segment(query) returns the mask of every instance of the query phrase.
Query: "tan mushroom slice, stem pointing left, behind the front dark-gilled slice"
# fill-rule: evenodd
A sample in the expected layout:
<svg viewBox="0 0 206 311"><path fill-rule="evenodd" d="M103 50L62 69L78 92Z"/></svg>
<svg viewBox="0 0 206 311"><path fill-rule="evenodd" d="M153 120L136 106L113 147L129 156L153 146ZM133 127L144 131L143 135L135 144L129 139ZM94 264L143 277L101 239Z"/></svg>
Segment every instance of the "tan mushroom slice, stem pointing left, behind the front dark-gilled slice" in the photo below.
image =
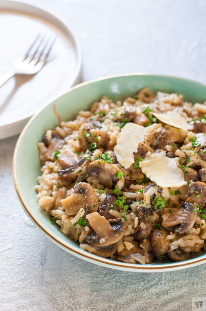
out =
<svg viewBox="0 0 206 311"><path fill-rule="evenodd" d="M74 194L61 200L61 204L69 216L77 214L80 208L83 208L88 214L97 211L98 199L90 184L78 183L74 186Z"/></svg>

